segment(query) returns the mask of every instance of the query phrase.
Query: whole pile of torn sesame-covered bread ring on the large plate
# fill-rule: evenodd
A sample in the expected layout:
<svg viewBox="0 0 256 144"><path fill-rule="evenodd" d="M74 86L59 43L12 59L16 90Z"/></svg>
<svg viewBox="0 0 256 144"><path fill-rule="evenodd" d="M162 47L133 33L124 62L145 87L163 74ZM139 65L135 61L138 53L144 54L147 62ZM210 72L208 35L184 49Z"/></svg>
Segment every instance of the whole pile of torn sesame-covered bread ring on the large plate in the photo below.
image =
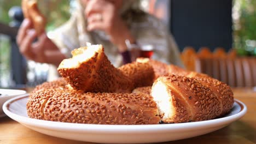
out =
<svg viewBox="0 0 256 144"><path fill-rule="evenodd" d="M138 58L115 68L102 45L80 47L72 56L59 65L63 78L31 93L29 117L86 124L181 123L225 115L234 103L225 83L176 65Z"/></svg>

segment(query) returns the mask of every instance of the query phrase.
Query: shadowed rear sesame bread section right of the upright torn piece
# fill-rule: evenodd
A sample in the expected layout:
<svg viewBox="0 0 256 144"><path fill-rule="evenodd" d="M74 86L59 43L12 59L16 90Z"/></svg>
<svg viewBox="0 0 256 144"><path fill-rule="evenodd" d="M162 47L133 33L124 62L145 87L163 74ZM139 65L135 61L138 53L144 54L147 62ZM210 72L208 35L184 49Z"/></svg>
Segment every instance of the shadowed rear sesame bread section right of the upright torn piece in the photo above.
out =
<svg viewBox="0 0 256 144"><path fill-rule="evenodd" d="M133 88L153 85L155 73L149 63L132 62L118 69L131 79Z"/></svg>

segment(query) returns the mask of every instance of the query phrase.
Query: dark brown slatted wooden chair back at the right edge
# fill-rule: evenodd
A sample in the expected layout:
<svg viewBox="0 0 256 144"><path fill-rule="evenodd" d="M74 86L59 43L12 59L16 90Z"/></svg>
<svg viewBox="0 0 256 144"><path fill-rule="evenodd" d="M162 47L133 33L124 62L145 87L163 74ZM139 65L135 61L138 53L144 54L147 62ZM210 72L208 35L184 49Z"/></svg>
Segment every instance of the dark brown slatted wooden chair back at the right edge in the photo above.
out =
<svg viewBox="0 0 256 144"><path fill-rule="evenodd" d="M256 86L256 57L196 57L195 69L231 87Z"/></svg>

